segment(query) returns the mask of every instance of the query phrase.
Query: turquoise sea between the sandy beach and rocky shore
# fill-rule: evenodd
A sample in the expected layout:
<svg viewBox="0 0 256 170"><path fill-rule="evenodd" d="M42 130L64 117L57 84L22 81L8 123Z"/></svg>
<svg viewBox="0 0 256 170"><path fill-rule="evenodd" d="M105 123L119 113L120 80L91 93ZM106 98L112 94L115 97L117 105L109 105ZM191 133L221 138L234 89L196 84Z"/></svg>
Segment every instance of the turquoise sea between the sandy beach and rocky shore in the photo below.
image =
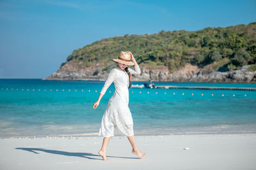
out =
<svg viewBox="0 0 256 170"><path fill-rule="evenodd" d="M251 83L154 83L256 88ZM0 79L0 137L98 136L115 90L111 84L94 110L103 85L104 81ZM256 91L131 88L129 108L135 136L256 132Z"/></svg>

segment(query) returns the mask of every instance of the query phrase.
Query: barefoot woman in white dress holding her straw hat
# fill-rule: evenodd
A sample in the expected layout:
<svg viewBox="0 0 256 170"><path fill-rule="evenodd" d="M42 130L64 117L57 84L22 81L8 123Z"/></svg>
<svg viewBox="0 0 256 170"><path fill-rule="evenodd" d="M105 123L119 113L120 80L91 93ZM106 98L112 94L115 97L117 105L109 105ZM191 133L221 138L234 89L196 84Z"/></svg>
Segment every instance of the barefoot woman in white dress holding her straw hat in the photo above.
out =
<svg viewBox="0 0 256 170"><path fill-rule="evenodd" d="M131 62L132 59L132 62ZM117 66L109 72L108 78L105 81L104 87L100 91L99 99L93 103L93 108L96 109L99 106L100 99L105 94L109 85L114 82L115 92L109 99L108 107L102 117L101 126L99 130L99 136L104 137L102 142L102 148L99 150L99 155L103 160L109 160L106 158L106 148L111 136L114 136L115 132L127 136L131 145L132 153L142 158L146 153L140 152L134 141L133 133L133 120L131 111L129 110L129 88L131 87L131 73L140 74L140 67L134 59L131 52L120 52L118 59L113 59L117 62ZM133 66L134 69L128 66Z"/></svg>

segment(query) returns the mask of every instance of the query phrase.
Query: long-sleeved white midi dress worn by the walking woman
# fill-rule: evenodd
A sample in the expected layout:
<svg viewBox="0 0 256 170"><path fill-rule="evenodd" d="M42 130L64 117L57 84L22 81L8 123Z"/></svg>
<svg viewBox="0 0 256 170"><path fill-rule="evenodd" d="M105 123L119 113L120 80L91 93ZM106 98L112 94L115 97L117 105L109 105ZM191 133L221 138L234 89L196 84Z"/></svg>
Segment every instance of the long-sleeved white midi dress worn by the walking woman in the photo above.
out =
<svg viewBox="0 0 256 170"><path fill-rule="evenodd" d="M134 69L128 67L131 74L141 73L139 66L134 66ZM100 93L104 95L112 82L114 82L115 85L115 92L113 93L113 96L110 97L108 107L102 117L99 136L102 135L103 137L109 137L114 136L114 134L132 136L134 135L133 120L131 111L128 107L129 76L125 70L116 66L109 72L108 78Z"/></svg>

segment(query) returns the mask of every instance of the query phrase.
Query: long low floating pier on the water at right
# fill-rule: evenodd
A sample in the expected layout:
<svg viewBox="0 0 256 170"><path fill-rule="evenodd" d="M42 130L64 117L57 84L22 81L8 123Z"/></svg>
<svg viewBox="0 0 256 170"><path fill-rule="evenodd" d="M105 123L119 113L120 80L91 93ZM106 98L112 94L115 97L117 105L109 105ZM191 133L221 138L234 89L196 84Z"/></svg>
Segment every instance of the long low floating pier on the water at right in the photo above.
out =
<svg viewBox="0 0 256 170"><path fill-rule="evenodd" d="M156 85L157 89L205 89L205 90L251 90L256 91L256 88L251 87L181 87L172 85Z"/></svg>

